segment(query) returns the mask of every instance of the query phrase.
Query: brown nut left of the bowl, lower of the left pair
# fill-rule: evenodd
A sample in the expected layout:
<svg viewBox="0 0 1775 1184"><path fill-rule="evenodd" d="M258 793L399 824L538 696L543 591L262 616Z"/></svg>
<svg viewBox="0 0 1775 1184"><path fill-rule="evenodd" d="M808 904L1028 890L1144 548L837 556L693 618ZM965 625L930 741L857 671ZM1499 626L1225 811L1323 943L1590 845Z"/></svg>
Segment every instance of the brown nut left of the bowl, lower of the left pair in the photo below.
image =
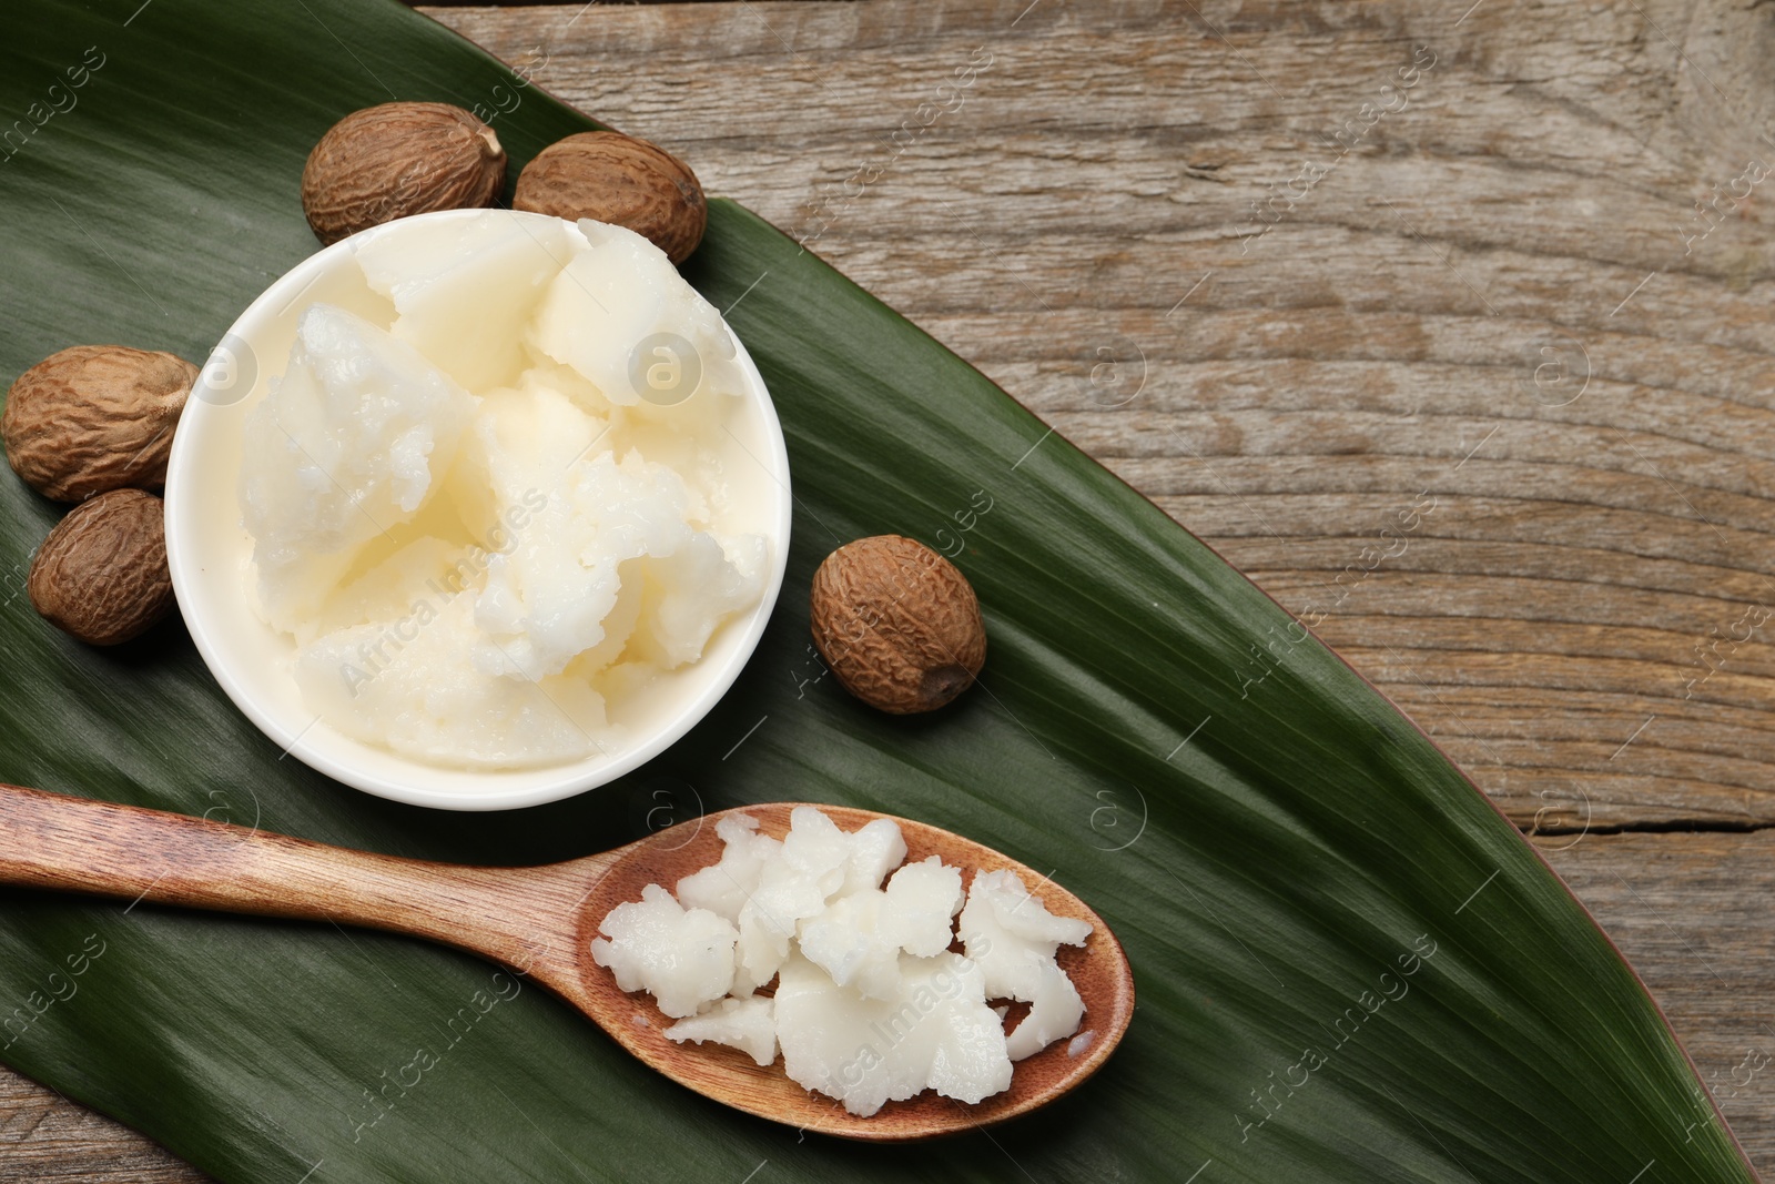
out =
<svg viewBox="0 0 1775 1184"><path fill-rule="evenodd" d="M160 499L112 490L75 506L37 549L25 591L44 620L96 646L160 621L174 604Z"/></svg>

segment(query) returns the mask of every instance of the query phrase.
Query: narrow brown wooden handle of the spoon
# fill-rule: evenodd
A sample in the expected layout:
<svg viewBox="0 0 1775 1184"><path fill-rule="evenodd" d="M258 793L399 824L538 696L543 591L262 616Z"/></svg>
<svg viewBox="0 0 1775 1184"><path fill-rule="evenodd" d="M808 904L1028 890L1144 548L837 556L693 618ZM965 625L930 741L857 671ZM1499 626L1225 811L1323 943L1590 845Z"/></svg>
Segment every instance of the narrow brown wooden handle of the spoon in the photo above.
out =
<svg viewBox="0 0 1775 1184"><path fill-rule="evenodd" d="M0 884L362 925L529 969L575 939L600 859L469 868L0 785Z"/></svg>

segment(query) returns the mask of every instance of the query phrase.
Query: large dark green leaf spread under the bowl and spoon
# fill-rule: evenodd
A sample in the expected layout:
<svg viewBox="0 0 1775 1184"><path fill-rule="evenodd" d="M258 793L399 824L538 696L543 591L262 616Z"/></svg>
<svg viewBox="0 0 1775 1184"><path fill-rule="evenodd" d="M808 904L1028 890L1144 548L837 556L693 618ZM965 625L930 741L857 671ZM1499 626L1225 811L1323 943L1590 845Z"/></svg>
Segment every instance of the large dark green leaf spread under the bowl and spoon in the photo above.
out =
<svg viewBox="0 0 1775 1184"><path fill-rule="evenodd" d="M0 48L7 375L85 341L204 357L314 249L296 178L328 124L511 82L394 4L44 4ZM515 165L589 126L531 94L495 124ZM1278 605L746 209L714 202L689 275L770 383L799 508L765 643L664 758L499 817L344 790L280 760L176 625L94 651L41 623L18 591L59 509L5 479L0 777L485 863L612 847L662 809L912 815L1053 868L1115 927L1141 1005L1102 1074L992 1138L799 1140L540 991L483 1012L493 967L453 951L21 891L0 895L0 1060L254 1184L737 1180L761 1161L809 1180L1754 1179L1564 886ZM816 678L799 589L820 557L955 538L987 504L958 556L983 685L889 719ZM414 1083L421 1047L437 1067Z"/></svg>

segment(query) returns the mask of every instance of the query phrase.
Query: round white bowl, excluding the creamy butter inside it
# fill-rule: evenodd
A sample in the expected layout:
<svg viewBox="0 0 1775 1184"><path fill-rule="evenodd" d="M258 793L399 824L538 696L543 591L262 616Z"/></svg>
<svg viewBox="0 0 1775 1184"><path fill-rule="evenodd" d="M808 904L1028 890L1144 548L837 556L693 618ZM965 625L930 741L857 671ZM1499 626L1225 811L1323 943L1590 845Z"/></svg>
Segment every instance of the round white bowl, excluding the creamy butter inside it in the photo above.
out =
<svg viewBox="0 0 1775 1184"><path fill-rule="evenodd" d="M758 462L756 529L769 540L765 593L726 621L701 660L666 675L644 703L628 705L628 740L609 754L543 769L463 770L428 765L344 737L318 722L291 676L295 643L268 627L247 595L252 540L241 525L240 472L247 410L282 375L302 311L323 300L382 325L389 305L353 261L359 241L405 227L490 211L451 209L403 218L320 250L272 284L234 321L204 366L179 421L167 467L167 559L179 612L229 698L289 756L378 797L442 809L513 809L572 797L612 781L683 737L726 694L758 646L788 561L788 451L758 367L735 337L746 378L742 410L728 422ZM509 213L550 220L547 215ZM616 706L616 705L612 705Z"/></svg>

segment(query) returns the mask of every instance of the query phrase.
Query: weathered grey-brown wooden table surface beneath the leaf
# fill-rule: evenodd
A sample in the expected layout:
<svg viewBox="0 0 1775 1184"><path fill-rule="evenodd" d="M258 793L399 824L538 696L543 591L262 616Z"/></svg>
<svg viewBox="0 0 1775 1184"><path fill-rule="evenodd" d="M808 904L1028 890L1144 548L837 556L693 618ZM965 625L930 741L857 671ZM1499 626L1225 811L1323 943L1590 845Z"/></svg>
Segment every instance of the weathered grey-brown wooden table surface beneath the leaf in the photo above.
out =
<svg viewBox="0 0 1775 1184"><path fill-rule="evenodd" d="M1322 614L1775 1173L1775 7L1468 4L431 14ZM195 1179L0 1072L0 1180Z"/></svg>

